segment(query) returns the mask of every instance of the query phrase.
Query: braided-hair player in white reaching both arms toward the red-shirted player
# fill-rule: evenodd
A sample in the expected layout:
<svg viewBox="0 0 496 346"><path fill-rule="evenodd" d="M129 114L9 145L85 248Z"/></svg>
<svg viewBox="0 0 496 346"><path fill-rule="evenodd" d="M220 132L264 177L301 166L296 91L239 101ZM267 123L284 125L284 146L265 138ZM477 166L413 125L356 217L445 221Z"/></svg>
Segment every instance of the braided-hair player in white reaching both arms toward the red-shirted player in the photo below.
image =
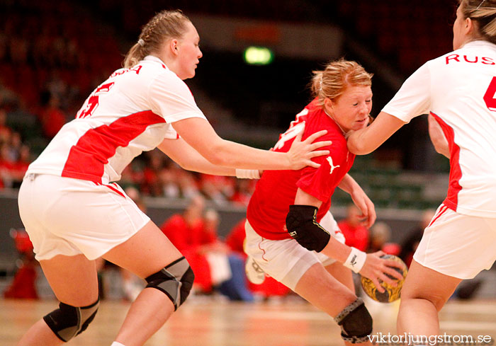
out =
<svg viewBox="0 0 496 346"><path fill-rule="evenodd" d="M115 71L91 93L26 173L19 212L60 307L18 345L61 345L98 308L94 260L103 257L147 280L113 346L143 345L188 296L191 267L164 233L113 183L142 151L158 147L186 169L254 177L258 169L315 166L312 142L289 153L225 141L196 106L184 79L195 75L199 37L180 11L162 11ZM217 165L217 166L214 166ZM318 165L317 165L318 166ZM239 169L237 169L239 168Z"/></svg>

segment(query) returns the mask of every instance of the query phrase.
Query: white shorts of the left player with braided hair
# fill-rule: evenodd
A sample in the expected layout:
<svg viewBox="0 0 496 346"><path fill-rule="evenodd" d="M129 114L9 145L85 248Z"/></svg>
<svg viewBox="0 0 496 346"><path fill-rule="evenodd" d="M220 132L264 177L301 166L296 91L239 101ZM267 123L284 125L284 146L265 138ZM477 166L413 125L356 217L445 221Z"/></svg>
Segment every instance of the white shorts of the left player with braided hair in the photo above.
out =
<svg viewBox="0 0 496 346"><path fill-rule="evenodd" d="M94 260L150 221L115 183L57 175L26 175L18 204L37 260L81 253Z"/></svg>

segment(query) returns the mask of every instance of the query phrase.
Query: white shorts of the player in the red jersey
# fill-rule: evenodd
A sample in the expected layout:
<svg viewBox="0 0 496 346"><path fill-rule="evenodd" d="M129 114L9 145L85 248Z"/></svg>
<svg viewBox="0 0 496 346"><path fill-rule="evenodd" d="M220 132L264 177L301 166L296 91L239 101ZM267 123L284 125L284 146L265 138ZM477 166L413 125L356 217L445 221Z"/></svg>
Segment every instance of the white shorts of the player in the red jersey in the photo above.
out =
<svg viewBox="0 0 496 346"><path fill-rule="evenodd" d="M329 231L332 237L344 243L344 235L330 212L322 217L320 225ZM322 263L327 267L327 265L336 262L322 253L303 248L293 238L281 241L262 238L254 231L248 220L244 224L244 229L247 233L244 251L266 274L274 277L278 282L282 282L293 291L300 278L312 265Z"/></svg>

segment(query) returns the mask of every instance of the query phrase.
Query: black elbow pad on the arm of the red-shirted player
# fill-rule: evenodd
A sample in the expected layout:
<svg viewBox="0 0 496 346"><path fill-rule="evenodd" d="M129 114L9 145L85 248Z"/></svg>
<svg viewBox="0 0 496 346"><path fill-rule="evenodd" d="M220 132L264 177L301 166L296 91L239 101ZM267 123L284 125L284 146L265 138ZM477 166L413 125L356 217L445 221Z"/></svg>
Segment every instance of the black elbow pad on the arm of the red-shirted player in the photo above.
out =
<svg viewBox="0 0 496 346"><path fill-rule="evenodd" d="M329 243L331 235L316 221L317 210L312 205L290 205L286 228L303 248L320 253Z"/></svg>

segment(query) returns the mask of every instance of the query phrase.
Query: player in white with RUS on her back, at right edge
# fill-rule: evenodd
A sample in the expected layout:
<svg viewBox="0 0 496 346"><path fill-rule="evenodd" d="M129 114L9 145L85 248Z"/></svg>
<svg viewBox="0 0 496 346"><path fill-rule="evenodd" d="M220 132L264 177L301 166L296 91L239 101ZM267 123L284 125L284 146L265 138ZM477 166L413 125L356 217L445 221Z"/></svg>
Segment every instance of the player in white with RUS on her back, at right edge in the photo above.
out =
<svg viewBox="0 0 496 346"><path fill-rule="evenodd" d="M398 333L439 335L438 312L457 285L496 260L496 0L460 1L453 50L420 67L371 126L348 138L349 151L368 154L425 113L444 134L431 131L450 158L448 195L402 288Z"/></svg>

